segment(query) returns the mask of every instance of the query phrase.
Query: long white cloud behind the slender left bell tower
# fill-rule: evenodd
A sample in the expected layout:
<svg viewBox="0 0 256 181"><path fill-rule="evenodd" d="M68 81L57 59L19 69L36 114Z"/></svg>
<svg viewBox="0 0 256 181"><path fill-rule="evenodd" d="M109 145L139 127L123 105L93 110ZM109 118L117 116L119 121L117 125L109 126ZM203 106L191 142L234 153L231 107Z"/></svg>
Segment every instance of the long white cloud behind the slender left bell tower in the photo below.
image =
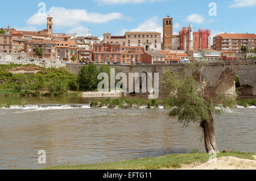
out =
<svg viewBox="0 0 256 181"><path fill-rule="evenodd" d="M120 12L109 14L100 14L98 12L88 12L84 9L65 9L64 7L51 7L46 14L36 13L28 20L28 24L42 25L46 24L47 15L53 17L55 26L78 26L82 22L106 23L110 20L121 19L123 15Z"/></svg>

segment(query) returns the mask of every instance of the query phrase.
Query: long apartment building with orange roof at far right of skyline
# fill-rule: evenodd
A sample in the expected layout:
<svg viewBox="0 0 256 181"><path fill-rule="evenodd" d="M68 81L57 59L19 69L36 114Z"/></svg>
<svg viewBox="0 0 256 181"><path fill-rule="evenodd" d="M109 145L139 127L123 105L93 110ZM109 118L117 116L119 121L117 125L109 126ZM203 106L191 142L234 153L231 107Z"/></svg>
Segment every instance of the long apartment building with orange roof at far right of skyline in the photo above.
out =
<svg viewBox="0 0 256 181"><path fill-rule="evenodd" d="M221 33L213 37L214 50L231 50L239 53L242 46L254 50L255 43L256 35L249 33Z"/></svg>

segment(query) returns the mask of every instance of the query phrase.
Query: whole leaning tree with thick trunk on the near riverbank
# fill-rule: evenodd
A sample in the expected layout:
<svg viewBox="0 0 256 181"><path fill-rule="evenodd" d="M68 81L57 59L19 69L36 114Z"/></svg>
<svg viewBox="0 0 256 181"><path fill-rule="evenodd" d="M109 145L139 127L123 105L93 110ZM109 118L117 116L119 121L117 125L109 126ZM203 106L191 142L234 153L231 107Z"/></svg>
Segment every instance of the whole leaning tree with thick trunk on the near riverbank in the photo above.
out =
<svg viewBox="0 0 256 181"><path fill-rule="evenodd" d="M207 153L219 153L214 133L213 114L220 114L226 107L234 106L234 98L218 95L221 85L228 80L234 80L234 72L242 62L228 65L220 79L212 85L216 71L210 74L208 81L203 78L205 62L195 62L185 65L178 73L171 69L163 71L163 92L168 96L173 107L170 117L177 117L186 127L190 123L199 123L204 133L204 143ZM226 65L225 65L226 66Z"/></svg>

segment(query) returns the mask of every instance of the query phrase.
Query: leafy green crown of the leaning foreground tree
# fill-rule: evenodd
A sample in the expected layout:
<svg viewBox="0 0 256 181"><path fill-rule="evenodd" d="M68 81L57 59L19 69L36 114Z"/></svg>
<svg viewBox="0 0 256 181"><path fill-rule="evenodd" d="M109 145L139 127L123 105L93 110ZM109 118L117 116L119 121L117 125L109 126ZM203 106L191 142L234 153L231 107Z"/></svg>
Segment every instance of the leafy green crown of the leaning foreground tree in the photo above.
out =
<svg viewBox="0 0 256 181"><path fill-rule="evenodd" d="M208 120L210 111L217 112L211 102L207 102L201 95L201 87L192 75L186 70L179 73L172 73L170 69L163 72L163 89L170 99L170 117L178 117L184 125L191 122ZM209 111L210 110L210 111Z"/></svg>

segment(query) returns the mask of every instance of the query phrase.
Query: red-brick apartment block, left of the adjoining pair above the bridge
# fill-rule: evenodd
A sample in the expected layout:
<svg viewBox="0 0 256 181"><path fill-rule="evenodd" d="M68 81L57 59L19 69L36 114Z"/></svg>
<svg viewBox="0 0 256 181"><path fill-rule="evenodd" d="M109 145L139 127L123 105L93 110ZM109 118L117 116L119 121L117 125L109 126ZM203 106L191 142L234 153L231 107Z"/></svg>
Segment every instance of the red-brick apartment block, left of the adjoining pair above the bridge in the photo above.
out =
<svg viewBox="0 0 256 181"><path fill-rule="evenodd" d="M93 61L97 63L121 63L121 45L110 43L96 43L93 45Z"/></svg>

